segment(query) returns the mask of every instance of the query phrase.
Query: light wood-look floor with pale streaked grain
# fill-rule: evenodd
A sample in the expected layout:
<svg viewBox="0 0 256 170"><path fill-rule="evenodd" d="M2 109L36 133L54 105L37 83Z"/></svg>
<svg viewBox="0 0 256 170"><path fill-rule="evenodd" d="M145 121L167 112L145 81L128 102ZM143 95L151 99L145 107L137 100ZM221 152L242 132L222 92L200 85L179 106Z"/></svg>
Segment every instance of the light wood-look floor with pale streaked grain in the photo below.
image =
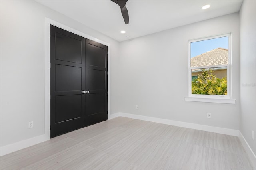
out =
<svg viewBox="0 0 256 170"><path fill-rule="evenodd" d="M1 169L254 169L238 137L117 117L2 156Z"/></svg>

